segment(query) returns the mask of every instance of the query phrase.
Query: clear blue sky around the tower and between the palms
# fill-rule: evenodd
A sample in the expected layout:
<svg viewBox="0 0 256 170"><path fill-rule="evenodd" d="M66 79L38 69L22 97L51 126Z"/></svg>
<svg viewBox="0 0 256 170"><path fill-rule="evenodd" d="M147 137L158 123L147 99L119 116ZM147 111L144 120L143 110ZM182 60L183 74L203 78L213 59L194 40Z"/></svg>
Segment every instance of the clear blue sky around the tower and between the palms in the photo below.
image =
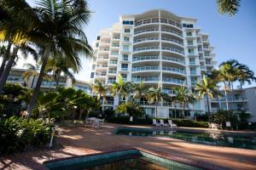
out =
<svg viewBox="0 0 256 170"><path fill-rule="evenodd" d="M256 1L241 0L239 12L230 17L218 14L217 0L88 0L91 17L84 32L91 43L102 28L119 22L119 14L141 14L152 8L163 8L179 16L198 19L196 27L209 34L215 48L218 64L237 59L256 74ZM35 0L26 0L32 6ZM18 67L32 59L20 59ZM82 81L90 80L90 60L82 59L83 70L76 75ZM254 83L253 86L256 84Z"/></svg>

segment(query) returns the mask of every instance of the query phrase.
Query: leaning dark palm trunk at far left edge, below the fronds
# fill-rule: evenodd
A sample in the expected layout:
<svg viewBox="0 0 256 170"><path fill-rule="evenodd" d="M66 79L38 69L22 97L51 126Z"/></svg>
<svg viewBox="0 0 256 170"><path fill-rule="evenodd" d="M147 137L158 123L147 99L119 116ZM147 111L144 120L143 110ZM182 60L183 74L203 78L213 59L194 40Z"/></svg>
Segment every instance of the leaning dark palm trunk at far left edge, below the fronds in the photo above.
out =
<svg viewBox="0 0 256 170"><path fill-rule="evenodd" d="M7 78L9 76L9 71L11 70L12 66L14 65L15 59L17 57L19 51L19 47L15 47L13 54L10 56L7 65L4 68L3 74L0 78L0 94L2 93L3 86L5 82L7 81Z"/></svg>

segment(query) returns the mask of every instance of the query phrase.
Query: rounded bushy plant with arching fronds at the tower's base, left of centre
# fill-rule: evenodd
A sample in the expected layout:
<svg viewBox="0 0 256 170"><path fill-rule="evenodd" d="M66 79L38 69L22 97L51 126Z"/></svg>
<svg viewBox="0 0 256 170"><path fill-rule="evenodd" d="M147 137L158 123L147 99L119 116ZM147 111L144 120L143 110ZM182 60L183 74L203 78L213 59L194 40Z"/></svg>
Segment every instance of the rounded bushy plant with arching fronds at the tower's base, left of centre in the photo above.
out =
<svg viewBox="0 0 256 170"><path fill-rule="evenodd" d="M120 104L115 111L120 114L127 113L129 116L143 116L145 114L143 108L132 100Z"/></svg>

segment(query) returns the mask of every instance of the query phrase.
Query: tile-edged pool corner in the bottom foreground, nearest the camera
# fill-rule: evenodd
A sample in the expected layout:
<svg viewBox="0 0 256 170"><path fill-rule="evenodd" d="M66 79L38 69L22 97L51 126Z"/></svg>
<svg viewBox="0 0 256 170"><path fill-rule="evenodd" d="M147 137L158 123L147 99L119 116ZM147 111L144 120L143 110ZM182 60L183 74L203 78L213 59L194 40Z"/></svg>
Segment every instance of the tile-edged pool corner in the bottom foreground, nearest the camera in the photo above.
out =
<svg viewBox="0 0 256 170"><path fill-rule="evenodd" d="M154 156L142 150L120 150L115 152L96 154L93 156L80 156L60 161L44 163L50 170L200 170L177 161Z"/></svg>

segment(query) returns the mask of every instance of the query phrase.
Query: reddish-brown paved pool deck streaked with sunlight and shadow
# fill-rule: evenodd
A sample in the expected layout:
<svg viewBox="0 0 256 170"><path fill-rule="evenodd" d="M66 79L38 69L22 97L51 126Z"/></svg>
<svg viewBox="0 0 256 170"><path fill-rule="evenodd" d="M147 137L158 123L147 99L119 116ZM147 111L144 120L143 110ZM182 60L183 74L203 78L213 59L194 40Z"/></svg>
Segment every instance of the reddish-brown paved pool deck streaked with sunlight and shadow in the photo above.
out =
<svg viewBox="0 0 256 170"><path fill-rule="evenodd" d="M256 169L256 150L191 144L178 139L161 137L143 138L113 134L113 131L121 126L124 125L106 123L99 129L61 127L62 134L61 137L58 137L57 142L64 146L63 149L35 150L14 156L4 156L0 158L0 169L40 170L45 169L44 161L131 148L145 150L173 161L188 163L206 169ZM193 129L197 131L204 130L202 128Z"/></svg>

